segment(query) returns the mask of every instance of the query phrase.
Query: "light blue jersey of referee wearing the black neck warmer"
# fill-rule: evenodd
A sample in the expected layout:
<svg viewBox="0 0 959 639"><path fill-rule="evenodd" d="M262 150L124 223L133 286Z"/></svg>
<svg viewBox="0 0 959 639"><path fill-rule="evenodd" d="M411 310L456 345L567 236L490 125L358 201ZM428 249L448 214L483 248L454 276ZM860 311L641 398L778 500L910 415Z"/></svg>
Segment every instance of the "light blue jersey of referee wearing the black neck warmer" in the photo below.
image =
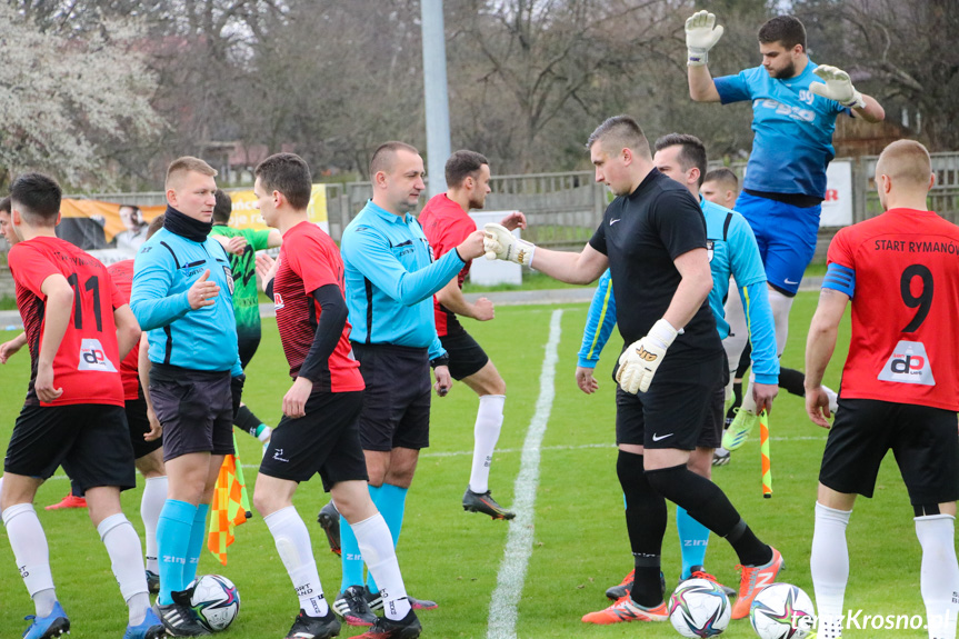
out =
<svg viewBox="0 0 959 639"><path fill-rule="evenodd" d="M190 309L187 291L203 271L220 287L213 306ZM242 375L233 319L233 279L227 251L161 229L133 262L130 309L148 332L150 361L191 370Z"/></svg>

